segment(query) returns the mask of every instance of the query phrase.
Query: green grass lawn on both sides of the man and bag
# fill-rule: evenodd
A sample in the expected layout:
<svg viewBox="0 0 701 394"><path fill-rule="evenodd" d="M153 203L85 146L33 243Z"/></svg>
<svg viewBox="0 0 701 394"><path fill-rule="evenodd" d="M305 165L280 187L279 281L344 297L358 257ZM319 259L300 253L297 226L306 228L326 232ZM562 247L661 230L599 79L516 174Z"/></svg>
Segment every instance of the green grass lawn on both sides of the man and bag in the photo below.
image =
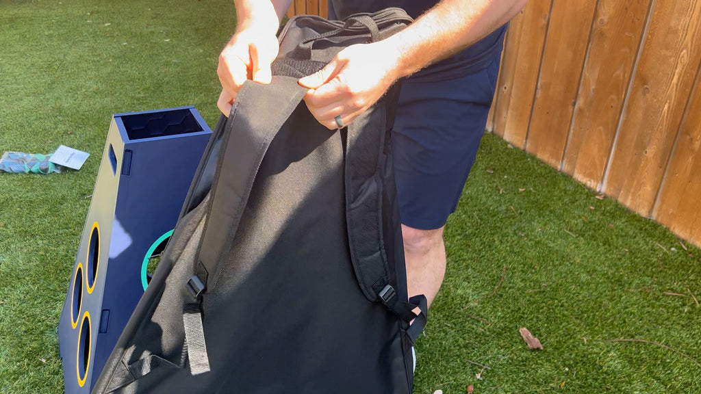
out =
<svg viewBox="0 0 701 394"><path fill-rule="evenodd" d="M230 0L0 0L0 154L91 154L0 174L0 393L63 392L56 327L111 114L194 105L213 126L234 20ZM486 135L446 245L416 393L701 393L701 250L662 226Z"/></svg>

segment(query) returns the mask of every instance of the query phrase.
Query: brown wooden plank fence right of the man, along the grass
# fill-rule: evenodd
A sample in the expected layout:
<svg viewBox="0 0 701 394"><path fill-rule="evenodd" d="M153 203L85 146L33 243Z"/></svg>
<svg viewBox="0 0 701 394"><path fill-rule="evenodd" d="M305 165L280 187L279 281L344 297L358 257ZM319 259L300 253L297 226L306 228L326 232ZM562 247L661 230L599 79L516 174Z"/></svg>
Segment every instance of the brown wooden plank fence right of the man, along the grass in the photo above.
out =
<svg viewBox="0 0 701 394"><path fill-rule="evenodd" d="M701 245L701 0L530 0L488 128Z"/></svg>

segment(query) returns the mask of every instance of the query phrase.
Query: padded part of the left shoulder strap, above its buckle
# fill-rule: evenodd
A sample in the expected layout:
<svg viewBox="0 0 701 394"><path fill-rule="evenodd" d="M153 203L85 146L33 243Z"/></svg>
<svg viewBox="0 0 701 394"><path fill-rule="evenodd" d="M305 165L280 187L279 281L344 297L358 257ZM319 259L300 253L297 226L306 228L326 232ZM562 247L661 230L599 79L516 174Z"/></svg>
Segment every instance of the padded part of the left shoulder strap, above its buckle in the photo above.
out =
<svg viewBox="0 0 701 394"><path fill-rule="evenodd" d="M267 85L246 81L239 91L212 182L212 205L198 251L199 266L194 267L205 287L212 284L201 272L216 276L217 263L236 236L261 161L306 90L297 78L273 76Z"/></svg>

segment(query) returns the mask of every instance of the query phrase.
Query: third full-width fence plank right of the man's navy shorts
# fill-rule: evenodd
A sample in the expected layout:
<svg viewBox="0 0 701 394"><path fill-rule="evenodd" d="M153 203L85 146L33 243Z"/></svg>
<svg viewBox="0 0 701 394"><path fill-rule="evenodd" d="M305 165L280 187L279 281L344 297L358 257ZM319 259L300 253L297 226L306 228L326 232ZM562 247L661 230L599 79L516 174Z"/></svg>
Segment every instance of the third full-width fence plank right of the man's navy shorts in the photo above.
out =
<svg viewBox="0 0 701 394"><path fill-rule="evenodd" d="M599 0L562 170L592 189L604 178L651 0Z"/></svg>

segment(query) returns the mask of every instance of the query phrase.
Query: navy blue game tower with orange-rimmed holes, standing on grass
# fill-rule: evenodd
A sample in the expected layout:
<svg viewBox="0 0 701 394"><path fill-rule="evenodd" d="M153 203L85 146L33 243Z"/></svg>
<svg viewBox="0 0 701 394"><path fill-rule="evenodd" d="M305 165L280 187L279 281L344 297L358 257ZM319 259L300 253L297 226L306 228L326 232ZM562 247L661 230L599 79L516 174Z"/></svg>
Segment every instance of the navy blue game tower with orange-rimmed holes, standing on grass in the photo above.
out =
<svg viewBox="0 0 701 394"><path fill-rule="evenodd" d="M100 376L211 135L194 107L112 117L58 327L67 394Z"/></svg>

